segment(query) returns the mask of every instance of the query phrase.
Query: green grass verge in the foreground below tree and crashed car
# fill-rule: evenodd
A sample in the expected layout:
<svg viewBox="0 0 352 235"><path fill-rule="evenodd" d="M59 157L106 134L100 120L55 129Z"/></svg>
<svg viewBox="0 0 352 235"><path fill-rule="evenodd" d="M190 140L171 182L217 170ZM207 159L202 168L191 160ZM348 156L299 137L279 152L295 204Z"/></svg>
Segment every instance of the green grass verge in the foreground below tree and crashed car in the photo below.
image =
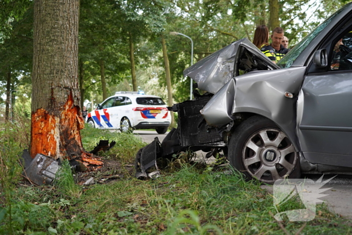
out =
<svg viewBox="0 0 352 235"><path fill-rule="evenodd" d="M13 136L20 136L21 131L10 128L0 133L0 234L296 234L300 229L300 234L352 232L350 221L329 212L325 205L317 206L312 221L277 222L272 195L258 182L246 182L232 169L184 161L162 171L154 180L140 181L126 171L124 178L85 188L74 184L68 165L64 165L54 185L29 186L18 175L18 152L26 144ZM117 141L104 158L119 161L122 167L132 164L137 150L145 145L133 134L82 130L86 149L93 149L100 139ZM298 201L288 205L299 206Z"/></svg>

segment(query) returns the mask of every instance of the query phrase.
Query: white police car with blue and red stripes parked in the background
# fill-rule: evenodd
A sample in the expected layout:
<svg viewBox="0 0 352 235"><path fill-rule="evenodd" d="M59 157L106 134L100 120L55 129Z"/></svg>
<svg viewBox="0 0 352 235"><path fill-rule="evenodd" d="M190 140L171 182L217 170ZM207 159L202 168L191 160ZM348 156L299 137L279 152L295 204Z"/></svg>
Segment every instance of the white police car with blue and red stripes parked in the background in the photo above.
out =
<svg viewBox="0 0 352 235"><path fill-rule="evenodd" d="M155 129L164 134L171 122L165 103L158 96L138 92L116 92L87 116L87 123L96 128Z"/></svg>

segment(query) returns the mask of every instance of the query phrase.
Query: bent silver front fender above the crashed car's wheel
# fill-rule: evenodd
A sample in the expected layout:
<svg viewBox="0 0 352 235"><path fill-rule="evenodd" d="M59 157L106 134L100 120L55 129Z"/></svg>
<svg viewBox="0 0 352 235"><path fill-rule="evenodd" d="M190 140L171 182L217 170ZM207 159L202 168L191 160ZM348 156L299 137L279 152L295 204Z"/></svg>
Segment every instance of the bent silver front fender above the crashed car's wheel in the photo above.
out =
<svg viewBox="0 0 352 235"><path fill-rule="evenodd" d="M299 148L296 102L306 67L249 72L228 82L201 111L209 125L222 126L236 113L254 113L273 120ZM285 97L285 92L294 98ZM234 96L233 96L234 94Z"/></svg>

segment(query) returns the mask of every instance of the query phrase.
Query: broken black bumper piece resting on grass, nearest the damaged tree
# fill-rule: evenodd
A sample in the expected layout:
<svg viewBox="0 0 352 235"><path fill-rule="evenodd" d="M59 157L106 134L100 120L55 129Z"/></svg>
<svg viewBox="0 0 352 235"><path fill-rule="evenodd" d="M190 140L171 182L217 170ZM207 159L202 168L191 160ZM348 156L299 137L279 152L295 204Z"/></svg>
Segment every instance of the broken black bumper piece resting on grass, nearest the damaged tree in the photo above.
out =
<svg viewBox="0 0 352 235"><path fill-rule="evenodd" d="M156 165L160 149L160 141L158 137L155 137L153 142L138 150L135 160L135 177L137 179L156 178L160 175Z"/></svg>

